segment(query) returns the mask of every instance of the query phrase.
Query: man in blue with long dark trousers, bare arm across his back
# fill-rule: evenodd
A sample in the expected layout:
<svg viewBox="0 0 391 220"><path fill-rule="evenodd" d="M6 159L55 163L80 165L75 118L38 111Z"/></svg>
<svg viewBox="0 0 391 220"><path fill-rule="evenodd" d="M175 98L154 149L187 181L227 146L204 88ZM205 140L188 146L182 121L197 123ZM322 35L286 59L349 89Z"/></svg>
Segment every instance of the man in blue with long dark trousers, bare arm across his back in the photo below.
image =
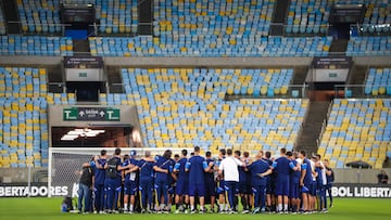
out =
<svg viewBox="0 0 391 220"><path fill-rule="evenodd" d="M266 184L267 174L272 172L269 164L262 158L263 151L255 156L255 161L249 165L248 169L251 173L251 184L254 193L254 210L253 213L265 212L266 207Z"/></svg>

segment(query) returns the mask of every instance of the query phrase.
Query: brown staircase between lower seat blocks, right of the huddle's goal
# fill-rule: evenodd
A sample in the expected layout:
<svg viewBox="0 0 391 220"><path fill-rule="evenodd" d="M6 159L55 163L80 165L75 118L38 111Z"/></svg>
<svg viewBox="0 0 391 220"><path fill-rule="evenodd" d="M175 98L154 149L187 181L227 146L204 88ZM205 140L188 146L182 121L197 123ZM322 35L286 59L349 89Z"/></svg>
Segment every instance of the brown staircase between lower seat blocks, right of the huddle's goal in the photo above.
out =
<svg viewBox="0 0 391 220"><path fill-rule="evenodd" d="M297 142L297 150L306 151L307 155L315 154L318 147L318 138L327 113L329 111L330 102L311 102L307 111L304 125Z"/></svg>

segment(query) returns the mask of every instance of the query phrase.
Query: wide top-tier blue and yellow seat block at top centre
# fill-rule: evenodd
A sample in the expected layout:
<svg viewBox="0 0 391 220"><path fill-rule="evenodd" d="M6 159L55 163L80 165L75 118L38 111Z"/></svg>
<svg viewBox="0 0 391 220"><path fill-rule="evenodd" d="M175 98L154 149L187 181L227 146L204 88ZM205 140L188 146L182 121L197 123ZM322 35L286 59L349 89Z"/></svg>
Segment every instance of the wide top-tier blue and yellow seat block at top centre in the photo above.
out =
<svg viewBox="0 0 391 220"><path fill-rule="evenodd" d="M274 0L154 1L155 36L267 36Z"/></svg>

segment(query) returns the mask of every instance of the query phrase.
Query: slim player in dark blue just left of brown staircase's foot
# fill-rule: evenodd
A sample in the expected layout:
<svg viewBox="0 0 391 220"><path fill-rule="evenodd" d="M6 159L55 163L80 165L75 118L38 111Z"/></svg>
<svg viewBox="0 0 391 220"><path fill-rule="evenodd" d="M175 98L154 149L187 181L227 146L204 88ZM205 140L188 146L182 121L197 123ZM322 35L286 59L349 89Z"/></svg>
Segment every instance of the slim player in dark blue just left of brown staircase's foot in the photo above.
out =
<svg viewBox="0 0 391 220"><path fill-rule="evenodd" d="M289 179L289 197L291 199L291 208L292 212L295 213L300 209L300 194L299 194L299 183L300 183L300 176L301 176L301 164L297 160L298 154L292 152L287 152L287 158L291 160L295 170L290 171L290 179Z"/></svg>

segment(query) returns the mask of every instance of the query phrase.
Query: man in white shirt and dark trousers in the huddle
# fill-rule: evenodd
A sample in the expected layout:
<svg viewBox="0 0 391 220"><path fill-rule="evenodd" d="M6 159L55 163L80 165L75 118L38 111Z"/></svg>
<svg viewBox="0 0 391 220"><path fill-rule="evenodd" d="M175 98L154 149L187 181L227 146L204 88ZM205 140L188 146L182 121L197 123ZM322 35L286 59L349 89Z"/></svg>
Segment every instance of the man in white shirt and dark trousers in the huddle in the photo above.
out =
<svg viewBox="0 0 391 220"><path fill-rule="evenodd" d="M218 173L224 174L225 191L230 206L230 213L237 212L235 204L235 194L239 184L238 166L245 166L242 161L232 156L232 150L227 150L227 157L224 158L218 167Z"/></svg>

